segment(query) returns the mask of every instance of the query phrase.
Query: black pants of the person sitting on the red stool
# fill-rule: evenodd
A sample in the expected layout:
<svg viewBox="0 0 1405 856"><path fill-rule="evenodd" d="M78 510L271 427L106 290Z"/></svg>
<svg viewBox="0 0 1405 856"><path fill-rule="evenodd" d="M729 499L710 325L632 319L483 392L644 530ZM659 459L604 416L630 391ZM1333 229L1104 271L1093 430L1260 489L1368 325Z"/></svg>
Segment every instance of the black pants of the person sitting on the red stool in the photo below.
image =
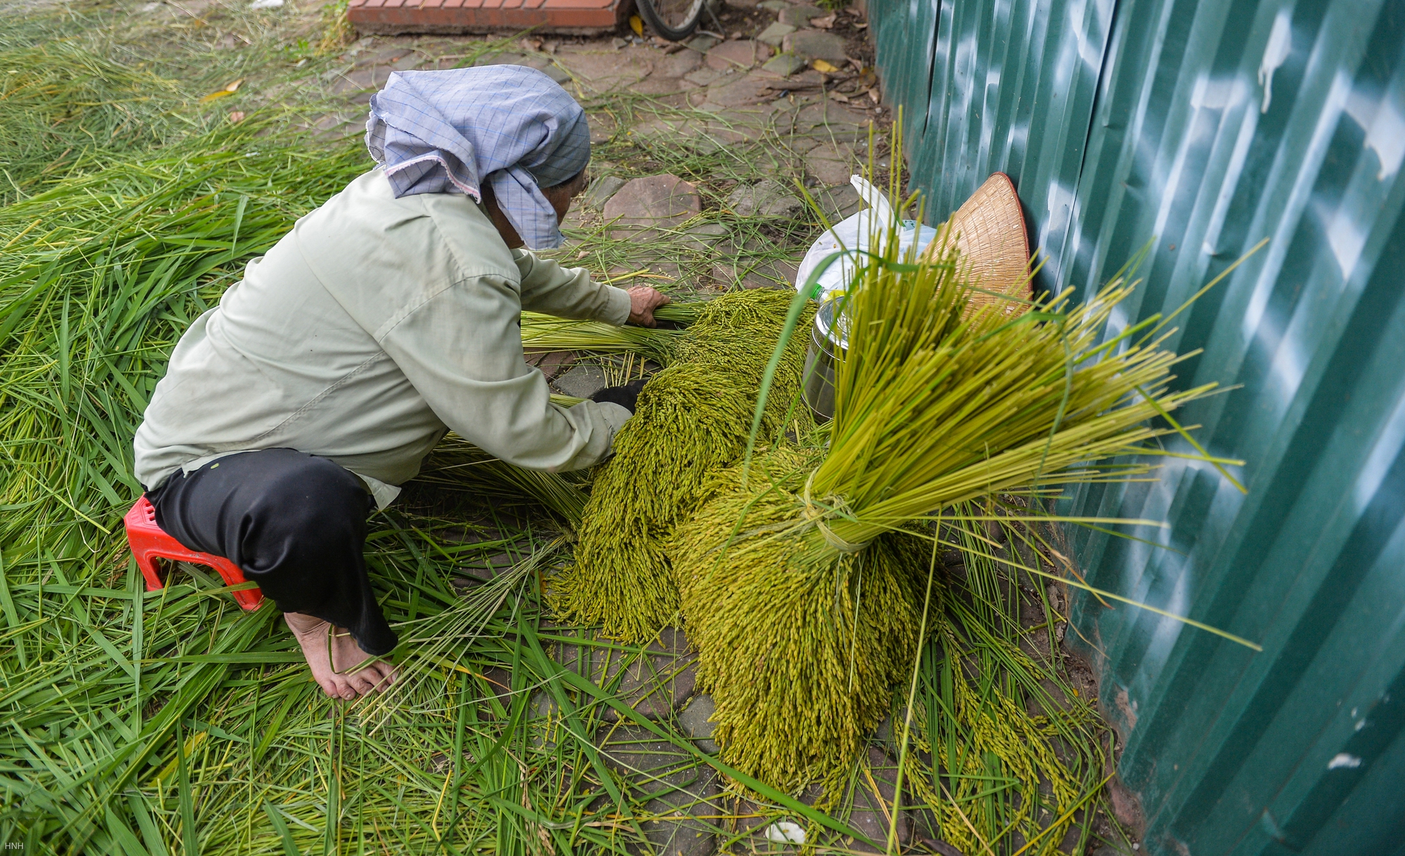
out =
<svg viewBox="0 0 1405 856"><path fill-rule="evenodd" d="M367 654L395 650L361 554L375 501L348 470L294 449L240 452L146 498L171 537L233 561L278 609L346 627Z"/></svg>

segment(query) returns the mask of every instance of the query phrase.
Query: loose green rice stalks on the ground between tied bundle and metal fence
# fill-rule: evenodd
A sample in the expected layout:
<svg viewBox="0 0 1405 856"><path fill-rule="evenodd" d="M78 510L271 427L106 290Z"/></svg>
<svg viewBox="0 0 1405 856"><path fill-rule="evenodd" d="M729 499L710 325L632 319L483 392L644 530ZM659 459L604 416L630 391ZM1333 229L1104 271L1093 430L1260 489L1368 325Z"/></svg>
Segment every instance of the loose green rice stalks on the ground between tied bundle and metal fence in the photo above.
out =
<svg viewBox="0 0 1405 856"><path fill-rule="evenodd" d="M958 542L988 537L969 521L948 529ZM1017 580L971 556L964 570L962 580L936 595L937 629L923 658L930 665L922 674L923 700L913 709L919 754L908 756L906 782L920 803L932 805L940 838L962 852L984 850L982 841L998 842L1012 832L1031 841L1047 828L1043 846L1033 852L1054 853L1073 825L1069 808L1102 786L1100 759L1087 758L1090 763L1075 769L1083 759L1068 752L1096 748L1089 731L1097 717L1066 688L1066 697L1054 700L1045 686L1058 686L1058 675L1020 648L1024 630L999 606L1000 589L1012 589L1017 616ZM1045 713L1031 714L1026 699ZM1075 766L1055 754L1055 740ZM1051 814L1041 817L1040 807Z"/></svg>

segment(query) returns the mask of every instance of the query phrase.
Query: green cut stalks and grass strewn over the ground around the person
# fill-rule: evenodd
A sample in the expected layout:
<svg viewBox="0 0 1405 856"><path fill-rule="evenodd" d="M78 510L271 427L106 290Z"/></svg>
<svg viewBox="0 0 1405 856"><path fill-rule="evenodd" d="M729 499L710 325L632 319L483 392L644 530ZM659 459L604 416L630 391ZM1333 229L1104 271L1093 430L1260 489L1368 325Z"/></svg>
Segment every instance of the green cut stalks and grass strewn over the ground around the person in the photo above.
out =
<svg viewBox="0 0 1405 856"><path fill-rule="evenodd" d="M551 623L541 578L569 544L559 518L525 498L485 504L426 479L372 521L368 561L406 679L355 706L318 692L271 605L243 613L188 567L146 592L121 515L139 491L131 436L170 348L247 258L368 161L354 139L303 131L330 94L291 84L337 62L319 53L318 10L163 6L159 25L133 24L148 14L136 4L11 11L0 25L0 65L18 69L0 84L3 145L18 153L0 188L0 839L132 856L662 852L681 814L686 835L735 850L783 820L825 848L857 846L835 827L882 839L885 824L864 824L891 805L891 734L825 817L784 794L724 800L715 762L676 718L631 713L621 674L658 658ZM219 46L230 39L243 46ZM488 42L475 45L469 62ZM268 95L280 87L287 98ZM618 128L681 115L641 98L590 107ZM705 290L719 255L780 261L812 236L725 209L726 182L781 168L750 156L763 147L700 153L624 132L601 146L621 174L698 181L702 220L725 227L722 248L677 255L674 290ZM646 265L599 226L572 233L583 264ZM1061 660L1028 653L1031 634L1057 651L1050 599L1062 595L993 564L954 567L946 591L947 630L919 671L917 744L974 761L939 775L919 752L912 775L926 790L903 804L917 800L927 838L1016 853L1026 842L1006 825L1038 786L969 723L1006 703L1061 711L1051 745L1086 807L1102 800L1106 735ZM1021 610L1034 603L1048 620L1031 631ZM563 646L627 668L568 671ZM950 714L957 695L975 718ZM1090 841L1082 828L1065 850Z"/></svg>

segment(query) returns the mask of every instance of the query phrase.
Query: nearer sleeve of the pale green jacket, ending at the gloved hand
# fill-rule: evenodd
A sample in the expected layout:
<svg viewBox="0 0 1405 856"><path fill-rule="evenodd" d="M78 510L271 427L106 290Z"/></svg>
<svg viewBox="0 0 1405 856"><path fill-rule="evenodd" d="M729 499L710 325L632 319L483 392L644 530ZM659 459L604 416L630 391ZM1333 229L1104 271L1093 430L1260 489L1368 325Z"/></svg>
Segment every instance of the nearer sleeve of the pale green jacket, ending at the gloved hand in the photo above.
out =
<svg viewBox="0 0 1405 856"><path fill-rule="evenodd" d="M513 283L473 276L409 312L381 347L434 414L489 455L534 470L599 463L629 411L552 404L547 379L523 359L520 313Z"/></svg>

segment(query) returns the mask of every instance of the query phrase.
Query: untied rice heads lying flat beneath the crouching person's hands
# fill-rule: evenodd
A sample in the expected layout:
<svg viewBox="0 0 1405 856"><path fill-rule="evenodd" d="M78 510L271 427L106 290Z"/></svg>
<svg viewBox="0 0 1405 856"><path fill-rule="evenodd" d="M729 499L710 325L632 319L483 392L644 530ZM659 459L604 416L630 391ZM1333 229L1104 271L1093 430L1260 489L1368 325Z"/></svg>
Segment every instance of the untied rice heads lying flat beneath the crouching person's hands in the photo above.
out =
<svg viewBox="0 0 1405 856"><path fill-rule="evenodd" d="M787 295L769 289L718 297L680 337L674 365L645 386L615 456L596 477L575 563L554 581L563 620L604 624L606 634L629 641L648 641L676 620L665 539L697 504L707 473L742 456L769 344L788 306ZM787 406L802 359L798 344L783 351L777 396L763 413L766 436L794 415Z"/></svg>

